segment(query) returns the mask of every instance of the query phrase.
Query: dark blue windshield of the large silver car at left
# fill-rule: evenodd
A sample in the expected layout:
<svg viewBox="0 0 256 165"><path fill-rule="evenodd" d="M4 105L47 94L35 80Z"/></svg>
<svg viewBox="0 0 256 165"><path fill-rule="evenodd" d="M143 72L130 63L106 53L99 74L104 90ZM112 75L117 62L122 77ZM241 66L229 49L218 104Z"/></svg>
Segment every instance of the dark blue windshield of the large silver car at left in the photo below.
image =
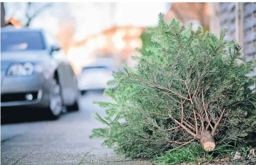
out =
<svg viewBox="0 0 256 165"><path fill-rule="evenodd" d="M1 31L1 52L44 50L39 31Z"/></svg>

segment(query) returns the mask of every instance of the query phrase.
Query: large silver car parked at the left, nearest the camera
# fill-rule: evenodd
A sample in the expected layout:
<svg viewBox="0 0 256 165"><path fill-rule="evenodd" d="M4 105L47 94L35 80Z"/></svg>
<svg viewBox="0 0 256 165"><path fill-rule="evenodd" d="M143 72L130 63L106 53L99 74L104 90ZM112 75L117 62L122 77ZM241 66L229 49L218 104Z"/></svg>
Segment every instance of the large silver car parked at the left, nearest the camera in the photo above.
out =
<svg viewBox="0 0 256 165"><path fill-rule="evenodd" d="M1 28L1 107L37 108L51 119L63 106L78 110L77 78L68 61L55 59L60 50L43 30Z"/></svg>

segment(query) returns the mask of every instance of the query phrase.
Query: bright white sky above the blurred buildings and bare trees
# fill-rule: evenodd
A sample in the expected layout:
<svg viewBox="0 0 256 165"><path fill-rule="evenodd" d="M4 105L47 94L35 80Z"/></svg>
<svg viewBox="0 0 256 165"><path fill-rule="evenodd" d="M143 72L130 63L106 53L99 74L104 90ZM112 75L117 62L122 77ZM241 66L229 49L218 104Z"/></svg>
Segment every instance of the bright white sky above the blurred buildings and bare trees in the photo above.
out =
<svg viewBox="0 0 256 165"><path fill-rule="evenodd" d="M34 3L37 10L42 3ZM31 23L31 28L44 28L52 34L60 21L76 27L74 39L82 40L112 26L155 26L160 12L167 13L170 3L54 3ZM25 3L5 3L6 19L24 20ZM14 12L15 11L15 12Z"/></svg>

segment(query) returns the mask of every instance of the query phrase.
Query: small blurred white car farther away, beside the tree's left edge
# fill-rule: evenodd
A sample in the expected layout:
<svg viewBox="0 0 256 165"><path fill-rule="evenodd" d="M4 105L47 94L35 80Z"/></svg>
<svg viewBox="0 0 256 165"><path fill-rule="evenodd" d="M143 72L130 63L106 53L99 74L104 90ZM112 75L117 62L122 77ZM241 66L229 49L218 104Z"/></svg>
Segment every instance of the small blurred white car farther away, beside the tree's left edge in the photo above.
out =
<svg viewBox="0 0 256 165"><path fill-rule="evenodd" d="M112 71L118 71L112 60L98 59L97 62L82 68L78 75L78 89L84 94L87 90L108 88L107 81L113 78Z"/></svg>

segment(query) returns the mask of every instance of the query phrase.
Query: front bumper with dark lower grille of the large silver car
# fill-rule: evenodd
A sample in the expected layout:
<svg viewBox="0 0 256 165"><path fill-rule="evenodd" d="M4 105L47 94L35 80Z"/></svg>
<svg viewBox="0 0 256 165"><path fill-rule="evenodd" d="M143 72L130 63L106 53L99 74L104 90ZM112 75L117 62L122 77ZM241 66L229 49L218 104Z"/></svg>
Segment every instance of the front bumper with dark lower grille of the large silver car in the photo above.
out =
<svg viewBox="0 0 256 165"><path fill-rule="evenodd" d="M45 108L49 105L51 82L43 74L6 76L1 80L1 107L27 106ZM32 99L26 98L31 94Z"/></svg>

